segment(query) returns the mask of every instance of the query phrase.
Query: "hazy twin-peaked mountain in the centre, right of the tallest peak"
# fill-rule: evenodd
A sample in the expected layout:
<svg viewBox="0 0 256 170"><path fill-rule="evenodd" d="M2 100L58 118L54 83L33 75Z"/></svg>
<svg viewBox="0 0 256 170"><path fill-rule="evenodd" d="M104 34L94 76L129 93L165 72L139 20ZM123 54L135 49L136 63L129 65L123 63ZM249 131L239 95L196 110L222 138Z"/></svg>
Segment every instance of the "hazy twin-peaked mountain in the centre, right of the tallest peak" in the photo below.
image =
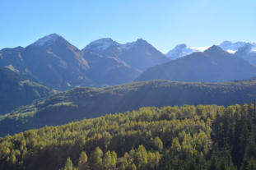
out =
<svg viewBox="0 0 256 170"><path fill-rule="evenodd" d="M165 54L143 39L127 44L119 44L113 39L98 39L88 44L83 51L98 53L103 57L119 58L138 71L145 71L148 67L169 61Z"/></svg>

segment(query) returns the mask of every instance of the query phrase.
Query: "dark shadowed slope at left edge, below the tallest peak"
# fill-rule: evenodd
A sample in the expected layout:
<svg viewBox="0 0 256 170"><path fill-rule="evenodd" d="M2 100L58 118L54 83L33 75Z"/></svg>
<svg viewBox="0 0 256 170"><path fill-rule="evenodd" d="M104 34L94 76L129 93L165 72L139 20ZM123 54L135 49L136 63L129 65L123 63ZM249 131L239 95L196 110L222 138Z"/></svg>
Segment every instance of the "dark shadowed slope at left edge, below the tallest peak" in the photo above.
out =
<svg viewBox="0 0 256 170"><path fill-rule="evenodd" d="M0 67L0 114L11 112L14 108L45 98L49 94L53 94L53 91L44 85Z"/></svg>

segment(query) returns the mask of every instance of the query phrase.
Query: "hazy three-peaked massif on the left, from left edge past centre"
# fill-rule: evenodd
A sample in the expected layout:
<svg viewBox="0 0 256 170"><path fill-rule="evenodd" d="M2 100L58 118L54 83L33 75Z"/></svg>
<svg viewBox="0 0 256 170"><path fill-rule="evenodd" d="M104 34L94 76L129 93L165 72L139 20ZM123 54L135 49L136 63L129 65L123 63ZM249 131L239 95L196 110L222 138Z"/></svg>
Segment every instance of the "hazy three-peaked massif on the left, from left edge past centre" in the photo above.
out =
<svg viewBox="0 0 256 170"><path fill-rule="evenodd" d="M0 66L57 90L131 82L141 71L167 61L143 39L125 45L100 39L80 50L62 36L49 34L26 48L0 51Z"/></svg>

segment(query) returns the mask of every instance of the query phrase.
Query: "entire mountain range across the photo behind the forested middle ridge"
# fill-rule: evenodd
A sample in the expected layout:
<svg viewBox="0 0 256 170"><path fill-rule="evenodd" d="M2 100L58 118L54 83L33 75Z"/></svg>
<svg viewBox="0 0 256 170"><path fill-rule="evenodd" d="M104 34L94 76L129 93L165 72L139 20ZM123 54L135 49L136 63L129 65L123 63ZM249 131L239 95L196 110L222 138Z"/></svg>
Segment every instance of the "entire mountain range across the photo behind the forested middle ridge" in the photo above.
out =
<svg viewBox="0 0 256 170"><path fill-rule="evenodd" d="M3 48L0 113L45 98L53 89L120 85L134 80L221 82L256 76L256 44L225 41L211 48L177 47L172 53L179 57L171 60L143 39L127 44L97 39L80 50L62 36L49 34L26 48ZM180 57L187 53L191 54Z"/></svg>

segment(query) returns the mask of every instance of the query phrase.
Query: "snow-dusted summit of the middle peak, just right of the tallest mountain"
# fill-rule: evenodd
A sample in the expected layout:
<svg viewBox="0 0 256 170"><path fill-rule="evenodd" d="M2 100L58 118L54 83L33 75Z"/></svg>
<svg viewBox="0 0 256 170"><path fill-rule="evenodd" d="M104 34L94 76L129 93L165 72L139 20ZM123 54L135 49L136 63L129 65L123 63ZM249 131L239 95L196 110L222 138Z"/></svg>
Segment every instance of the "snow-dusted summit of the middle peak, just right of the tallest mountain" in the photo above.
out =
<svg viewBox="0 0 256 170"><path fill-rule="evenodd" d="M92 41L90 44L86 45L83 50L92 49L92 50L105 50L109 48L111 45L119 46L117 42L110 38L97 39Z"/></svg>

